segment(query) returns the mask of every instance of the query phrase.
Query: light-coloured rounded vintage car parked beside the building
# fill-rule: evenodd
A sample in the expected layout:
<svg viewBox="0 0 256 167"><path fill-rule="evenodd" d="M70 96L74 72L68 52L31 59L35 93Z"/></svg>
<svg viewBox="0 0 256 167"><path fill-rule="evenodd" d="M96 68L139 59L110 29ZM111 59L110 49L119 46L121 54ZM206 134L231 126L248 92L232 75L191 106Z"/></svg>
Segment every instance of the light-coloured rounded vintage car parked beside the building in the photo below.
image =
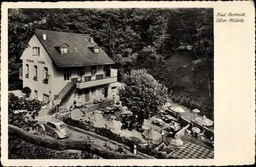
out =
<svg viewBox="0 0 256 167"><path fill-rule="evenodd" d="M55 139L69 137L71 134L67 125L58 119L41 124L39 131L46 132L47 134L52 135Z"/></svg>

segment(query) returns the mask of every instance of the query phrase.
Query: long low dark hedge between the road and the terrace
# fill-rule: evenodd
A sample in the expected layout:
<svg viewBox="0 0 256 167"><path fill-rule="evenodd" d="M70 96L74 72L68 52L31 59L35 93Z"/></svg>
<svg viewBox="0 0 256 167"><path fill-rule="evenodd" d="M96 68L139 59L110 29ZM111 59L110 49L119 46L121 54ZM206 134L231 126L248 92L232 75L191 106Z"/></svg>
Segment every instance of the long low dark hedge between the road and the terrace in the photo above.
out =
<svg viewBox="0 0 256 167"><path fill-rule="evenodd" d="M130 138L127 138L125 136L120 136L120 134L113 133L111 130L106 129L106 128L99 128L99 127L94 127L87 122L82 122L78 120L74 120L72 118L63 118L63 122L65 122L69 126L77 127L86 131L94 132L96 134L99 134L101 136L107 137L112 141L115 141L117 143L122 143L123 145L126 145L129 147L131 150L133 150L134 145L137 146L137 150L143 154L151 155L154 156L158 159L168 159L172 158L175 159L174 157L166 156L163 153L153 151L149 147L143 147L139 145L139 142L135 140L131 140Z"/></svg>

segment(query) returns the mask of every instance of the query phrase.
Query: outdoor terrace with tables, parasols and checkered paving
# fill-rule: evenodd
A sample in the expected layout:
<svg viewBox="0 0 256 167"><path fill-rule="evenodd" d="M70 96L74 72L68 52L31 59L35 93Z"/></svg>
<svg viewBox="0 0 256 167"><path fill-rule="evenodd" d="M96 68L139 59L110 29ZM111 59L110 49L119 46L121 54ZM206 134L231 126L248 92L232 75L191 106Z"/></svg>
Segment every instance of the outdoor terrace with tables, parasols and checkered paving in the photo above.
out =
<svg viewBox="0 0 256 167"><path fill-rule="evenodd" d="M115 100L115 103L118 99ZM95 114L97 113L97 114ZM126 113L126 114L124 114ZM151 119L145 119L142 128L138 128L136 126L136 121L133 122L136 118L130 114L127 114L127 109L125 106L122 106L122 109L113 110L113 112L104 112L104 110L94 110L91 115L95 115L95 117L90 116L81 116L76 117L76 120L87 122L95 127L101 128L109 128L112 132L119 134L120 136L125 136L126 138L131 138L134 140L140 141L143 145L150 145L152 149L162 144L162 141L165 143L171 143L170 141L173 138L178 137L181 141L183 141L184 148L175 148L175 149L159 149L158 151L164 152L166 154L172 154L173 157L176 158L214 158L214 147L212 147L212 143L210 138L214 136L214 131L209 129L208 127L202 126L193 119L188 121L183 118L182 114L178 119L175 119L177 113L174 113L172 110L167 109L164 113L160 113L157 117ZM102 115L102 117L100 117ZM127 116L128 115L128 116ZM125 120L130 115L130 120ZM160 121L159 124L156 120L163 119L164 115L171 115L174 120L164 119ZM96 117L99 117L96 119ZM121 122L122 127L108 127L111 120L114 122ZM133 124L133 126L127 125ZM176 124L176 125L173 125ZM178 128L179 127L179 128ZM154 134L146 133L148 129L153 129ZM198 132L193 132L193 128L198 128ZM190 131L190 133L188 133ZM143 132L143 133L142 133ZM203 133L203 136L200 133ZM148 135L148 136L147 136ZM155 135L154 139L150 139L150 136ZM167 146L166 146L167 147ZM195 155L191 155L191 152L197 152ZM201 154L202 155L199 155Z"/></svg>

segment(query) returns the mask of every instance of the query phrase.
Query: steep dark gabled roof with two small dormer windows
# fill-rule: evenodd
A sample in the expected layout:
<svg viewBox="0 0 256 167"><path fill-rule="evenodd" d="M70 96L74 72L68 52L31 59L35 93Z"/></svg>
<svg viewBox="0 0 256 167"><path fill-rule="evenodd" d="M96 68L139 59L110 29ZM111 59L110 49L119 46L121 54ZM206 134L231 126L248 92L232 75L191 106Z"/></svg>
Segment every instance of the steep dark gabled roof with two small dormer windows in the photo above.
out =
<svg viewBox="0 0 256 167"><path fill-rule="evenodd" d="M96 45L95 42L90 42L90 37L87 34L63 33L38 29L35 30L35 34L57 67L114 64L101 48L99 49L99 53L94 53L87 47L88 45ZM42 39L42 34L46 34L46 40ZM56 44L60 43L70 46L67 54L60 54L59 50L54 47L54 45L56 46Z"/></svg>

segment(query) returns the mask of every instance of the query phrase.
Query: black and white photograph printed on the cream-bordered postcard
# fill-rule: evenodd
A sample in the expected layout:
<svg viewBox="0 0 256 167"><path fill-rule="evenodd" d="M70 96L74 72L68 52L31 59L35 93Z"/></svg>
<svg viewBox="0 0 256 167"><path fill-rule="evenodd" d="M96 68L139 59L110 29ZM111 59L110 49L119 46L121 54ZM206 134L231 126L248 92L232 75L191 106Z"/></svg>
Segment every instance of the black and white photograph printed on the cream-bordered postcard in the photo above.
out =
<svg viewBox="0 0 256 167"><path fill-rule="evenodd" d="M213 8L9 9L9 159L214 158Z"/></svg>

